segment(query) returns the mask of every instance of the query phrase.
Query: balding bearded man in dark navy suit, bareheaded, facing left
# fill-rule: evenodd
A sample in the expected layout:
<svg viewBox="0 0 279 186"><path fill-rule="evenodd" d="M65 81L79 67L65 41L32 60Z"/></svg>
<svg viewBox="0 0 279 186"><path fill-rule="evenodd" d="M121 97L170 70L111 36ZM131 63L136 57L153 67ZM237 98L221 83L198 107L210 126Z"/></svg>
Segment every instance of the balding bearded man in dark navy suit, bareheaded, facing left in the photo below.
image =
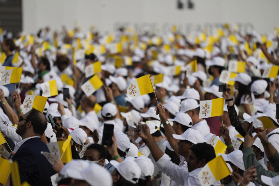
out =
<svg viewBox="0 0 279 186"><path fill-rule="evenodd" d="M56 172L41 151L49 152L47 145L41 141L41 136L47 128L44 115L35 109L20 116L16 133L22 141L15 146L13 161L18 162L21 183L27 181L30 185L52 185L50 177Z"/></svg>

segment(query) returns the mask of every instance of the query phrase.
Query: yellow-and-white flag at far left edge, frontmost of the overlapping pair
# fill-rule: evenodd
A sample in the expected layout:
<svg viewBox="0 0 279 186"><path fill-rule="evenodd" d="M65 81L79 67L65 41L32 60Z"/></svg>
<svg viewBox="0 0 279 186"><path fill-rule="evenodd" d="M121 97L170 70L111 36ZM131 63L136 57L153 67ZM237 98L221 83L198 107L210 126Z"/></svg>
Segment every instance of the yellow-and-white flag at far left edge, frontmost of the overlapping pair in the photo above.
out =
<svg viewBox="0 0 279 186"><path fill-rule="evenodd" d="M22 74L22 67L20 68L13 68L9 70L3 71L1 76L0 85L8 85L10 83L19 83L21 74Z"/></svg>

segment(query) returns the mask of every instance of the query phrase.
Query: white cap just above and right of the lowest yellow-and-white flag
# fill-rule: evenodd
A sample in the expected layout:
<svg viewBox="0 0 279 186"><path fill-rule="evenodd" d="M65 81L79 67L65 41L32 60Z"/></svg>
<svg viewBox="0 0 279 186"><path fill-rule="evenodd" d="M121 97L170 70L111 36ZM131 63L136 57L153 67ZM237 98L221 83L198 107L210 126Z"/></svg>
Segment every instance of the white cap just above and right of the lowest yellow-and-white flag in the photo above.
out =
<svg viewBox="0 0 279 186"><path fill-rule="evenodd" d="M234 150L229 154L220 154L218 153L218 156L221 155L225 161L231 162L235 166L237 166L239 169L245 171L244 162L243 162L243 153L241 150Z"/></svg>

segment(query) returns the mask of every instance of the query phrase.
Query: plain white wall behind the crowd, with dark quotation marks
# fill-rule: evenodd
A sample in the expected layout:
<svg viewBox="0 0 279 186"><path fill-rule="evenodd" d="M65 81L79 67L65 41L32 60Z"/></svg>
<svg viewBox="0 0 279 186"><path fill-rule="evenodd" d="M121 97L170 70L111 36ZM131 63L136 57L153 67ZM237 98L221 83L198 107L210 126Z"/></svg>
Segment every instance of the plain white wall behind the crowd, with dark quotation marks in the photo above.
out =
<svg viewBox="0 0 279 186"><path fill-rule="evenodd" d="M181 0L187 1L187 0ZM104 31L119 25L132 25L139 31L144 27L162 32L177 24L183 33L192 30L212 30L225 22L239 23L242 31L255 29L272 32L279 26L278 0L192 0L194 10L187 4L177 9L176 0L22 0L23 31L36 33L50 26L61 30L62 25L73 28L76 23L84 31L94 24Z"/></svg>

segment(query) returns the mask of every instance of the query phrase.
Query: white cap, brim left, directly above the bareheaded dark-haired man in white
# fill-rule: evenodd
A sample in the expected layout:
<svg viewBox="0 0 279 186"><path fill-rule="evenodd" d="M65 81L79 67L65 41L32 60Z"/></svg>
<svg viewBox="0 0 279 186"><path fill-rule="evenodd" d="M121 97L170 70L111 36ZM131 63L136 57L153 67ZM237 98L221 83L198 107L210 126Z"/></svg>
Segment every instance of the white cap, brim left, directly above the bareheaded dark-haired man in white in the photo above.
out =
<svg viewBox="0 0 279 186"><path fill-rule="evenodd" d="M189 142L192 142L193 144L204 142L203 135L201 135L200 132L198 132L197 130L194 130L192 128L188 128L181 135L173 134L172 136L177 140L187 140Z"/></svg>

